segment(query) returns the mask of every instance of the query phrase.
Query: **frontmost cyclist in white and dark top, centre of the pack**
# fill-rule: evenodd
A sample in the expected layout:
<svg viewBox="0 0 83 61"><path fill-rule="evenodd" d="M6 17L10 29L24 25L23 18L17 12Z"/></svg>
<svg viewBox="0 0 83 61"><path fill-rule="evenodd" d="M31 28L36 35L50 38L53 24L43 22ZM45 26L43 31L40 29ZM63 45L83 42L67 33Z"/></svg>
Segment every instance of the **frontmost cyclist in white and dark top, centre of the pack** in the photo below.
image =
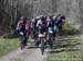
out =
<svg viewBox="0 0 83 61"><path fill-rule="evenodd" d="M41 20L37 23L38 32L39 32L39 41L41 44L41 52L43 54L44 52L44 46L45 46L45 19L44 16L41 17Z"/></svg>

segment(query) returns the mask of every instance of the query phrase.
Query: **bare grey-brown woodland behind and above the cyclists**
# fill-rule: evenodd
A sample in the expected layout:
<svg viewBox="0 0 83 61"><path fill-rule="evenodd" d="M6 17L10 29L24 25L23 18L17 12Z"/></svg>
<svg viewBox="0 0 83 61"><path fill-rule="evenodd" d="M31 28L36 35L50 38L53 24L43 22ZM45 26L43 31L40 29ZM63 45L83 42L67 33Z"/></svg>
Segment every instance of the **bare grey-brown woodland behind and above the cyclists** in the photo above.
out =
<svg viewBox="0 0 83 61"><path fill-rule="evenodd" d="M83 24L83 0L0 0L0 35L14 33L17 17L62 13L74 25Z"/></svg>

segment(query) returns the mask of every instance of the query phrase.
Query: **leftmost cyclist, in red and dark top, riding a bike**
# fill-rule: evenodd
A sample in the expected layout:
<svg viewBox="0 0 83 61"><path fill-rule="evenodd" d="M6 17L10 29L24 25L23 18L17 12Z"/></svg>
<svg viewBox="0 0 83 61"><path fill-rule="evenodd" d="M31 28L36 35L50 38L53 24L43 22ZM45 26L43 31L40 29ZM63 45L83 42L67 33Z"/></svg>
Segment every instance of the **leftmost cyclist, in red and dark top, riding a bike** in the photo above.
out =
<svg viewBox="0 0 83 61"><path fill-rule="evenodd" d="M20 35L20 40L21 40L21 50L27 46L27 17L22 16L19 21L18 21L18 25L17 25L17 30Z"/></svg>

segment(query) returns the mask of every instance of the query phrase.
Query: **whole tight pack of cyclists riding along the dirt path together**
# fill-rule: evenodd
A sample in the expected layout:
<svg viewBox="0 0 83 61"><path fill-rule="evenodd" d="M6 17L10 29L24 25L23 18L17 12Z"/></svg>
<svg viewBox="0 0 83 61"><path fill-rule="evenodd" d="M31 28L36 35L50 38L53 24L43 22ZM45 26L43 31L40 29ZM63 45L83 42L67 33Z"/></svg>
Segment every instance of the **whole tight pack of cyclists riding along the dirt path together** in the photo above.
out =
<svg viewBox="0 0 83 61"><path fill-rule="evenodd" d="M58 14L55 15L40 15L28 20L22 16L18 21L17 30L21 36L21 42L27 45L27 36L29 37L30 33L37 47L41 44L41 48L44 48L46 44L52 48L53 41L55 40L55 35L62 35L62 25L65 22L65 16ZM23 45L24 46L24 45ZM21 47L22 49L22 47ZM42 50L44 51L44 50Z"/></svg>

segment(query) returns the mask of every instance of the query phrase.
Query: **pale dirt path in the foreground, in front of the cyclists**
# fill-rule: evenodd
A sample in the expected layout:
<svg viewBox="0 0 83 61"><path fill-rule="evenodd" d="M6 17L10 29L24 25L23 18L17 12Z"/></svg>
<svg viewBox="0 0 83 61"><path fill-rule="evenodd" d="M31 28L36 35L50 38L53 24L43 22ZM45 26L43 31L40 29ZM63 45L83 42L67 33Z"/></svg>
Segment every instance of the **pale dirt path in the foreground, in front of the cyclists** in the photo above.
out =
<svg viewBox="0 0 83 61"><path fill-rule="evenodd" d="M40 49L24 49L22 52L17 49L6 56L0 61L45 61L46 53L41 54Z"/></svg>

